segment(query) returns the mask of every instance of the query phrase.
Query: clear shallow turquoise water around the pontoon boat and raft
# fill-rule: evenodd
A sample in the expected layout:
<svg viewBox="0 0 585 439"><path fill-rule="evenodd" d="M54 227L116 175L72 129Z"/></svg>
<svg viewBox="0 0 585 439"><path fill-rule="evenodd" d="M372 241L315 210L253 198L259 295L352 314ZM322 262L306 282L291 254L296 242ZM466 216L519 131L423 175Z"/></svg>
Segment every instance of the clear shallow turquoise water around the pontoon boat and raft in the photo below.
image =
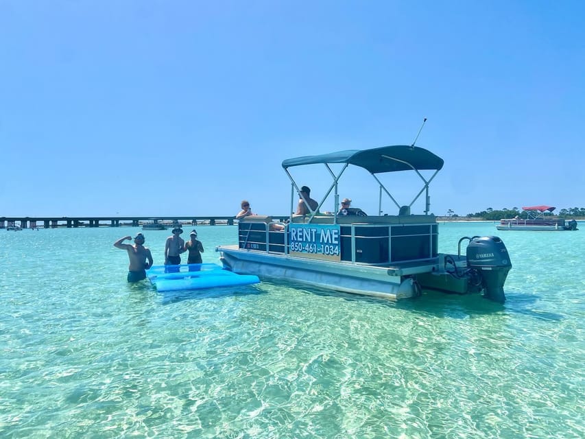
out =
<svg viewBox="0 0 585 439"><path fill-rule="evenodd" d="M128 285L138 228L0 230L3 438L583 438L585 224L499 235L497 305ZM185 232L190 230L185 229ZM199 226L204 262L233 226ZM145 233L163 263L168 231Z"/></svg>

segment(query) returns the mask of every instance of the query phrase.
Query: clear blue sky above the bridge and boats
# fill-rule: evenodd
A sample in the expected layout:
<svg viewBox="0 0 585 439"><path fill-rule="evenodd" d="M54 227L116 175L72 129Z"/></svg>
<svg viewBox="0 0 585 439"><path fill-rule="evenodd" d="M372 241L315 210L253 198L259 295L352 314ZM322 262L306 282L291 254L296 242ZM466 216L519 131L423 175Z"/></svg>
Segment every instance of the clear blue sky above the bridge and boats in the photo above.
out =
<svg viewBox="0 0 585 439"><path fill-rule="evenodd" d="M243 198L282 215L285 158L410 144L425 117L416 144L445 161L436 215L585 206L584 16L581 1L0 0L0 216L235 215ZM305 172L320 199L329 176ZM401 181L385 180L407 204L420 187ZM339 189L377 210L368 174Z"/></svg>

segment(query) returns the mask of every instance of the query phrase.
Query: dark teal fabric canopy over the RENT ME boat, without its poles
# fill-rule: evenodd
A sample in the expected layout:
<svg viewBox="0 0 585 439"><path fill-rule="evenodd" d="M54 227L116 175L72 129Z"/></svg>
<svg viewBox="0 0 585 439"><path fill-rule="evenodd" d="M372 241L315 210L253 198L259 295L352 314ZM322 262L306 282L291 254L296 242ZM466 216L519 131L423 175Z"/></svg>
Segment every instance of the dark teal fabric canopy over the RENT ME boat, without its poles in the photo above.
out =
<svg viewBox="0 0 585 439"><path fill-rule="evenodd" d="M444 162L442 158L435 156L425 148L392 145L372 148L371 150L346 150L319 156L287 158L283 161L283 168L318 163L348 163L363 167L372 174L380 174L412 169L436 169L438 171L443 167Z"/></svg>

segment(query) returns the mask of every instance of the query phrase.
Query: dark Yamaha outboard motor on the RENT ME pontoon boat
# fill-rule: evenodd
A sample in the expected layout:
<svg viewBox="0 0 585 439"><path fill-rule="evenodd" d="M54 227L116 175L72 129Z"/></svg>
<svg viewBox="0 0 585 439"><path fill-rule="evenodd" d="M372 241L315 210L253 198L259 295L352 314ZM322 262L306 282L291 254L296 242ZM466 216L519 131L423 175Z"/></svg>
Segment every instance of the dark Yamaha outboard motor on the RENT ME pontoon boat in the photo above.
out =
<svg viewBox="0 0 585 439"><path fill-rule="evenodd" d="M512 263L508 249L497 236L474 237L467 246L467 268L481 276L485 296L495 302L505 301L504 282Z"/></svg>

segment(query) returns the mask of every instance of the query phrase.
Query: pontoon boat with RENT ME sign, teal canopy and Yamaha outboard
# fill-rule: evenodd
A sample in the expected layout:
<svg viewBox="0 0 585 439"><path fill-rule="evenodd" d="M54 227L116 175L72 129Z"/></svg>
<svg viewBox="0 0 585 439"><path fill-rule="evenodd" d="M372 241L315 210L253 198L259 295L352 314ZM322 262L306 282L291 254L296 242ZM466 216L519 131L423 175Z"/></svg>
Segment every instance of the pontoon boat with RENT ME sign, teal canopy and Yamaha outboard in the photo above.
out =
<svg viewBox="0 0 585 439"><path fill-rule="evenodd" d="M499 237L462 237L457 254L438 252L438 224L429 214L429 184L443 167L442 158L409 145L289 158L282 166L291 180L291 211L296 206L296 193L300 193L291 170L309 165L324 165L326 174L333 178L317 209L309 206L309 215L291 215L284 230L272 226L270 216L242 218L238 244L216 248L226 268L261 279L392 299L438 289L458 294L483 292L497 302L505 300L503 285L512 264ZM319 213L329 195L333 195L335 206L339 205L339 179L350 165L368 171L377 182L379 215ZM378 174L401 171L414 172L422 180L422 189L414 188L414 199L404 206L378 178ZM423 192L424 215L410 215L411 206ZM383 193L392 200L398 215L381 215ZM462 243L466 244L465 254Z"/></svg>

